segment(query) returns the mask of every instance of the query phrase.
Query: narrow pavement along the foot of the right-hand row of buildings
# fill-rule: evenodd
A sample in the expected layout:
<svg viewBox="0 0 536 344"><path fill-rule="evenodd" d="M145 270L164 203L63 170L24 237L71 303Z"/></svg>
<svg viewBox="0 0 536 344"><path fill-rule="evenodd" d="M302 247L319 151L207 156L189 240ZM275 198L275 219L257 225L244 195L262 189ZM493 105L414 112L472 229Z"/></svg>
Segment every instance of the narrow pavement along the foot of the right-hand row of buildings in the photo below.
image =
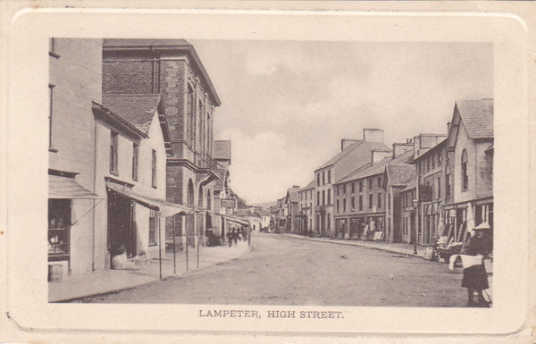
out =
<svg viewBox="0 0 536 344"><path fill-rule="evenodd" d="M314 240L314 241L330 242L332 244L352 245L352 246L359 246L362 248L380 249L382 251L398 253L400 255L405 255L405 256L418 256L418 257L425 259L424 258L424 250L426 249L425 246L417 246L417 253L415 254L414 253L415 248L413 244L406 244L406 243L400 243L400 242L385 242L385 241L372 241L372 240L363 241L363 240L357 240L357 239L310 238L310 237L305 237L303 235L289 234L289 233L285 233L282 235L285 235L291 238L297 238L297 239L307 239L307 240ZM484 265L486 267L486 272L488 272L488 274L493 274L493 262L490 259L484 259ZM460 269L456 269L456 271L460 271Z"/></svg>

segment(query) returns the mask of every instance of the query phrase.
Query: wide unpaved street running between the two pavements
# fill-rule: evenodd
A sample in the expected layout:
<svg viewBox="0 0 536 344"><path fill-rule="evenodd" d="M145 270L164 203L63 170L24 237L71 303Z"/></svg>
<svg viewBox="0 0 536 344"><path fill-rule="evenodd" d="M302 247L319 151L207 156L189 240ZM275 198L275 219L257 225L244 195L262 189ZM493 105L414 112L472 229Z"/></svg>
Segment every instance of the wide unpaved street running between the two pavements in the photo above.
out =
<svg viewBox="0 0 536 344"><path fill-rule="evenodd" d="M80 302L318 306L465 306L447 264L372 248L253 233L247 256ZM233 248L230 248L233 249Z"/></svg>

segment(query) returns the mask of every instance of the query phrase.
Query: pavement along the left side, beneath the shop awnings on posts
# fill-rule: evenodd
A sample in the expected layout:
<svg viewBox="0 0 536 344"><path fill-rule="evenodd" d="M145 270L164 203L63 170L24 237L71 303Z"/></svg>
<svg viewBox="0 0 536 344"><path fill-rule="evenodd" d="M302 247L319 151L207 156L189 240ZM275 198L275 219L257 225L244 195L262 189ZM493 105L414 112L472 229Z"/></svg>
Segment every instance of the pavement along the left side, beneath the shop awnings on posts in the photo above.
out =
<svg viewBox="0 0 536 344"><path fill-rule="evenodd" d="M173 254L168 252L162 259L162 279L160 278L159 260L151 259L136 263L130 262L119 270L86 273L64 278L60 282L49 282L48 302L73 301L78 298L119 292L154 281L180 277L187 273L237 259L246 255L249 248L247 242L239 241L236 247L200 247L199 252L199 267L197 268L197 249L191 248L189 250L188 271L185 252L176 253L175 268L173 267Z"/></svg>

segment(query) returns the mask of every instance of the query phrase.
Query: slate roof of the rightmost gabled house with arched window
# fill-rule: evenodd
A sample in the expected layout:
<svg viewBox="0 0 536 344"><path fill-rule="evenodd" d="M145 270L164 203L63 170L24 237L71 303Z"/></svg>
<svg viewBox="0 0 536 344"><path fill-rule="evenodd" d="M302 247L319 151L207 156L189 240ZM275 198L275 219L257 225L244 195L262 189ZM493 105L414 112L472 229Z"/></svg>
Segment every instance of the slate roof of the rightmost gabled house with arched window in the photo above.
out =
<svg viewBox="0 0 536 344"><path fill-rule="evenodd" d="M493 99L458 100L468 138L493 138Z"/></svg>

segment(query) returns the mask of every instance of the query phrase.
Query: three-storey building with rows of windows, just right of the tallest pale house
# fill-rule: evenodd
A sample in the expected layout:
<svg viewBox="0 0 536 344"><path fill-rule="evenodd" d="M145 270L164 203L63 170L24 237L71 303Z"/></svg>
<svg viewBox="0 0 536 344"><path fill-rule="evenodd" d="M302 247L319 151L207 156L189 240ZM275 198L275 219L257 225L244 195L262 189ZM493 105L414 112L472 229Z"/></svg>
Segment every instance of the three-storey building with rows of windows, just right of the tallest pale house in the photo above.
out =
<svg viewBox="0 0 536 344"><path fill-rule="evenodd" d="M364 228L386 234L386 197L383 187L387 164L406 164L412 144L393 150L373 149L369 161L334 184L336 232L341 238L363 238Z"/></svg>

